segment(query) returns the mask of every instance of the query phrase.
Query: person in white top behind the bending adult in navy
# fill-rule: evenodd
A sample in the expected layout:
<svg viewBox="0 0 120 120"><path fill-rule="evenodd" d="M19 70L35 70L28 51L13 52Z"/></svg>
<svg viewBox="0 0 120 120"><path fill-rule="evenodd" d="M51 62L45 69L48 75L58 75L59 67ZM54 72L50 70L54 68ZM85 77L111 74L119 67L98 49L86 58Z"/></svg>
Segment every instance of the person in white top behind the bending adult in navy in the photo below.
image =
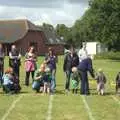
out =
<svg viewBox="0 0 120 120"><path fill-rule="evenodd" d="M79 61L80 62L88 57L88 51L86 49L86 43L83 43L83 47L82 47L82 49L79 50L78 56L79 56Z"/></svg>

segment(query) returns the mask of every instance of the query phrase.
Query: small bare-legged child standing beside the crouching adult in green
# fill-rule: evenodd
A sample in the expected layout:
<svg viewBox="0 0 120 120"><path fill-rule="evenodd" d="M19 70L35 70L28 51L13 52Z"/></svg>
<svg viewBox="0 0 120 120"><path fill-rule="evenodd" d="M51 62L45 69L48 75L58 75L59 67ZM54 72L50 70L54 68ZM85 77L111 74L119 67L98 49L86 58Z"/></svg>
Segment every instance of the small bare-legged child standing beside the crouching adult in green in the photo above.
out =
<svg viewBox="0 0 120 120"><path fill-rule="evenodd" d="M50 68L48 67L45 69L45 76L43 80L44 80L44 93L50 93L50 83L52 80L52 76Z"/></svg>

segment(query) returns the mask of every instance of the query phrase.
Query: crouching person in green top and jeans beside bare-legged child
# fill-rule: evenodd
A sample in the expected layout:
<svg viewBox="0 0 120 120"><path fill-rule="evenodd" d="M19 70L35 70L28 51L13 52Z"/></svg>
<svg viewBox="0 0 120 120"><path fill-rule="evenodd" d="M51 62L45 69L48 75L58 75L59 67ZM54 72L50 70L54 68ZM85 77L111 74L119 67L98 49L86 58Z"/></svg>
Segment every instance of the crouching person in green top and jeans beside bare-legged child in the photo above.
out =
<svg viewBox="0 0 120 120"><path fill-rule="evenodd" d="M44 83L43 77L45 75L45 64L41 64L40 68L35 73L34 82L32 88L36 90L36 92L43 91Z"/></svg>

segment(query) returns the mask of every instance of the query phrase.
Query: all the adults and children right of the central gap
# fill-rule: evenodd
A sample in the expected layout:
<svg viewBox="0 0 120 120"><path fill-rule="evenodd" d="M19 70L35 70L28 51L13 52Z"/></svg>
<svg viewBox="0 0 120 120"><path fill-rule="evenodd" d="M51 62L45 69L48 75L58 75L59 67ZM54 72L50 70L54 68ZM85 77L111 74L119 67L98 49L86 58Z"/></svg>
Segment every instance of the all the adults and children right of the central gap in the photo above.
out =
<svg viewBox="0 0 120 120"><path fill-rule="evenodd" d="M86 44L83 44L82 49L79 50L78 54L71 47L66 50L63 70L66 73L66 85L65 90L68 93L70 91L70 81L72 83L72 92L77 93L80 83L80 93L88 95L89 81L88 72L97 83L98 95L104 95L105 84L107 82L106 75L101 68L96 72L93 69L92 59L88 55ZM120 88L120 72L116 76L116 93L119 93Z"/></svg>

